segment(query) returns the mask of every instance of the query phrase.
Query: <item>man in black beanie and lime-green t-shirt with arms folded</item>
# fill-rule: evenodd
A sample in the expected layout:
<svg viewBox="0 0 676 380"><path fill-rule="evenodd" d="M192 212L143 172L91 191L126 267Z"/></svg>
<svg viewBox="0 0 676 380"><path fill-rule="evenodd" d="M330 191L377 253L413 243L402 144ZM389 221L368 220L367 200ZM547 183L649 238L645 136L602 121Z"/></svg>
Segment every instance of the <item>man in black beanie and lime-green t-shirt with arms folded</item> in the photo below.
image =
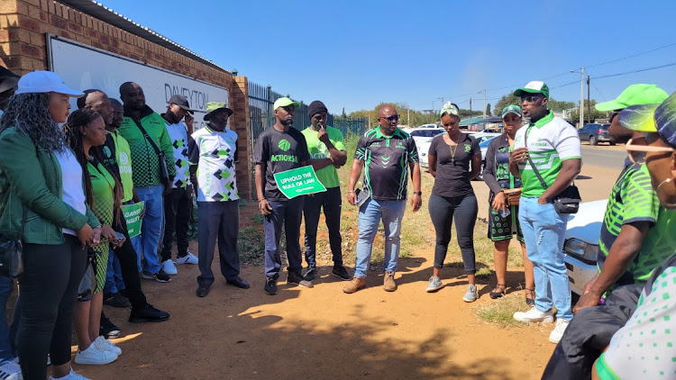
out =
<svg viewBox="0 0 676 380"><path fill-rule="evenodd" d="M350 274L343 267L343 250L341 249L341 181L336 168L347 162L347 152L343 145L343 133L326 125L328 110L324 103L315 100L307 107L312 125L302 131L306 137L307 150L310 153L310 165L315 168L319 181L326 187L326 192L306 196L303 214L306 218L306 281L312 281L317 274L316 243L319 214L324 208L326 227L329 230L329 244L333 254L333 271L331 274L343 281L350 280Z"/></svg>

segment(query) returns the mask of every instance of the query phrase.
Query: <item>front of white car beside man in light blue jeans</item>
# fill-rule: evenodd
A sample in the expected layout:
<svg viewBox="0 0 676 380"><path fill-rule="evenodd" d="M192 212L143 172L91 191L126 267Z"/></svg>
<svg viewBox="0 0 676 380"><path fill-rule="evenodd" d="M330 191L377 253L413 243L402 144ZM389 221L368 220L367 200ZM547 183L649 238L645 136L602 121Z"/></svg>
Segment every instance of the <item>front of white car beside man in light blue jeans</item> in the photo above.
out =
<svg viewBox="0 0 676 380"><path fill-rule="evenodd" d="M569 216L563 260L574 294L582 295L584 285L598 272L597 255L603 255L598 248L598 238L606 207L607 199L585 202L580 204L578 213Z"/></svg>

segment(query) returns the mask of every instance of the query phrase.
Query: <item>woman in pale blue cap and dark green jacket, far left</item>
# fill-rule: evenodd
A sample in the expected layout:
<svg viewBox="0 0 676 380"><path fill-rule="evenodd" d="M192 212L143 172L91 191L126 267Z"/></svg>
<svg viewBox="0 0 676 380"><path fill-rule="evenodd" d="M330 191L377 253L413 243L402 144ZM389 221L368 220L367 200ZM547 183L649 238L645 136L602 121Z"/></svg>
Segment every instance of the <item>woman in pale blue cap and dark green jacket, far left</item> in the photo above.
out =
<svg viewBox="0 0 676 380"><path fill-rule="evenodd" d="M100 223L85 202L82 168L66 145L70 97L83 95L49 71L19 80L0 119L0 235L23 240L22 317L17 348L23 379L84 379L70 367L73 306L87 245Z"/></svg>

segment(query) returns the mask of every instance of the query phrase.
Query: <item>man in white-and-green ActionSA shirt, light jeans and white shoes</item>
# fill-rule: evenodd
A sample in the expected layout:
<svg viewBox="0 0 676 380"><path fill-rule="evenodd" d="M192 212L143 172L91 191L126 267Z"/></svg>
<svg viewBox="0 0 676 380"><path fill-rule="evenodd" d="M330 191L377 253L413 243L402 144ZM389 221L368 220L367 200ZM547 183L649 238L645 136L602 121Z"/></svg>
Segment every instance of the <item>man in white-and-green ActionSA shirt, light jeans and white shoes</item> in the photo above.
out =
<svg viewBox="0 0 676 380"><path fill-rule="evenodd" d="M568 327L572 312L562 251L568 215L556 212L553 199L580 173L580 138L571 124L547 109L549 87L544 82L529 82L514 95L521 97L523 115L530 123L516 132L509 170L523 183L518 217L535 278L534 307L515 312L514 318L551 323L556 306L556 325L549 335L555 344Z"/></svg>

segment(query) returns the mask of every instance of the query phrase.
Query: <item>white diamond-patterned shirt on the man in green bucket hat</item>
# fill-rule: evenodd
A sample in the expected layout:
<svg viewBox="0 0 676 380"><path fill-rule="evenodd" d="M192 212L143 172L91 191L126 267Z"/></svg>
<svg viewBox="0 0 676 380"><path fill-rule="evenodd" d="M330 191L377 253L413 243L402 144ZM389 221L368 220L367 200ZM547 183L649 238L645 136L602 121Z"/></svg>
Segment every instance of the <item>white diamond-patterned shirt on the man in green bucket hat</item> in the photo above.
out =
<svg viewBox="0 0 676 380"><path fill-rule="evenodd" d="M197 166L197 202L236 201L237 133L213 131L208 126L192 134L190 165Z"/></svg>

